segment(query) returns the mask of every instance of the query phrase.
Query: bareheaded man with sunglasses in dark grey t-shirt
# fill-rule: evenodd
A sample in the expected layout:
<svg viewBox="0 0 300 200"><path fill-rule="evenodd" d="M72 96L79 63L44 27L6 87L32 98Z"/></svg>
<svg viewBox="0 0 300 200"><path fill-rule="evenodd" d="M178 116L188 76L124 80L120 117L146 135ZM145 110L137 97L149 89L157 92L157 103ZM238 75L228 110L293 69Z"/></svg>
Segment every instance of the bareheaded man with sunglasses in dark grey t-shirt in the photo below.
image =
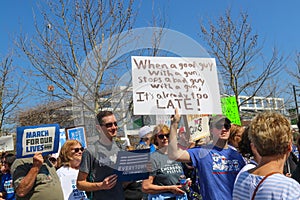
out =
<svg viewBox="0 0 300 200"><path fill-rule="evenodd" d="M100 111L96 128L99 140L83 152L77 188L89 192L93 200L125 199L122 183L115 174L117 153L120 150L113 140L118 131L115 115L111 111Z"/></svg>

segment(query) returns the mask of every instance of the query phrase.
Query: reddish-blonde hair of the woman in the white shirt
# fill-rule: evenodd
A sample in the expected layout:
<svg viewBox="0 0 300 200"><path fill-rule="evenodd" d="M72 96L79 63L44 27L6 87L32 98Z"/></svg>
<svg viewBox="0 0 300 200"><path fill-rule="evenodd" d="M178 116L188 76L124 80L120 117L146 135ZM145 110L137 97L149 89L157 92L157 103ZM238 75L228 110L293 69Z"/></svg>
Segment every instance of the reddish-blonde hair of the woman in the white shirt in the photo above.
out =
<svg viewBox="0 0 300 200"><path fill-rule="evenodd" d="M79 144L81 147L81 143L78 140L67 140L64 145L61 147L59 156L57 158L57 167L61 166L70 166L70 161L72 160L72 146Z"/></svg>

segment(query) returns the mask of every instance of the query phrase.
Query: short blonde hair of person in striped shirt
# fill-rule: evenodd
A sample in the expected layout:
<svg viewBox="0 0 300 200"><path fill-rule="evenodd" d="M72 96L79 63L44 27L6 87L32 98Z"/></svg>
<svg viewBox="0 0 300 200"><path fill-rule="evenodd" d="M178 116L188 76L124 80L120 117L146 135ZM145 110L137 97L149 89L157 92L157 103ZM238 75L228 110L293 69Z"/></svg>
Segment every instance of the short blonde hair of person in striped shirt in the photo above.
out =
<svg viewBox="0 0 300 200"><path fill-rule="evenodd" d="M249 139L261 156L285 154L292 138L290 122L279 113L260 113L250 124Z"/></svg>

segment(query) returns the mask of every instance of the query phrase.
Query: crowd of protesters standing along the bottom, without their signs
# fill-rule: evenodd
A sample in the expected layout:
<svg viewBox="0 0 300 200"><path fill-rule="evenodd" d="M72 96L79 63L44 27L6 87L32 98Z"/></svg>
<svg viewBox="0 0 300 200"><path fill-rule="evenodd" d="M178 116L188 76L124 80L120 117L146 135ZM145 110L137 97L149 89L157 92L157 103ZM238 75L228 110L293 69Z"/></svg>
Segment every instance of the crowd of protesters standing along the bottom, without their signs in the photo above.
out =
<svg viewBox="0 0 300 200"><path fill-rule="evenodd" d="M300 162L293 153L300 150L300 137L293 144L283 115L263 112L249 126L211 116L209 138L197 141L186 137L177 109L170 120L170 126L139 130L134 149L150 149L146 179L119 179L117 119L111 111L100 111L99 140L87 148L67 140L57 158L36 153L16 159L3 153L0 200L300 199Z"/></svg>

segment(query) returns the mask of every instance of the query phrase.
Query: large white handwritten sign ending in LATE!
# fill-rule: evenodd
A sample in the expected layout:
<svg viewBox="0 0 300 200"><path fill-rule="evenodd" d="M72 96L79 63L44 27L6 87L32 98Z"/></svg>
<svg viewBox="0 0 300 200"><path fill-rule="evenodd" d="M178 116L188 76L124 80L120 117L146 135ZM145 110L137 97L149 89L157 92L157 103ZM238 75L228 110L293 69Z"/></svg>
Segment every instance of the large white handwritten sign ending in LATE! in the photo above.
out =
<svg viewBox="0 0 300 200"><path fill-rule="evenodd" d="M133 56L135 115L221 114L214 58Z"/></svg>

